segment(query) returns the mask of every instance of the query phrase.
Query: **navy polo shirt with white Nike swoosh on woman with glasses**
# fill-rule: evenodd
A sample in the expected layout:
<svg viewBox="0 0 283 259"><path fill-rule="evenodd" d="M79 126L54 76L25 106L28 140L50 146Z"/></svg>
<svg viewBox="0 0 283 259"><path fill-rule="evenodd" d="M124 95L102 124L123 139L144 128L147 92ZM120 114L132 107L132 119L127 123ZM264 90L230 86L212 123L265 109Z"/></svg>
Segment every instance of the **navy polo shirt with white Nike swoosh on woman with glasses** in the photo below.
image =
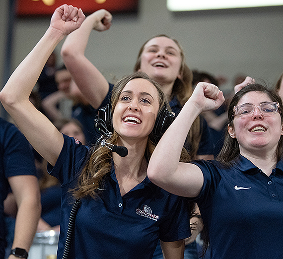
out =
<svg viewBox="0 0 283 259"><path fill-rule="evenodd" d="M243 156L230 168L193 162L204 174L195 200L212 259L283 259L283 161L268 177Z"/></svg>

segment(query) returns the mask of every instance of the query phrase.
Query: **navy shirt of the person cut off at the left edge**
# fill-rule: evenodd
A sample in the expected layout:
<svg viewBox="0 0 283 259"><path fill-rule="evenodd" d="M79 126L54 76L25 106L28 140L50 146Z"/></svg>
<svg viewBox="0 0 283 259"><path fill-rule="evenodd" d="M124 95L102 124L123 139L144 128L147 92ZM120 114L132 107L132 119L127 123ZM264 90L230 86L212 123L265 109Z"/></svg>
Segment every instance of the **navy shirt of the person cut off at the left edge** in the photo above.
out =
<svg viewBox="0 0 283 259"><path fill-rule="evenodd" d="M4 252L3 201L10 191L8 178L18 175L36 175L32 150L24 135L0 118L0 257Z"/></svg>

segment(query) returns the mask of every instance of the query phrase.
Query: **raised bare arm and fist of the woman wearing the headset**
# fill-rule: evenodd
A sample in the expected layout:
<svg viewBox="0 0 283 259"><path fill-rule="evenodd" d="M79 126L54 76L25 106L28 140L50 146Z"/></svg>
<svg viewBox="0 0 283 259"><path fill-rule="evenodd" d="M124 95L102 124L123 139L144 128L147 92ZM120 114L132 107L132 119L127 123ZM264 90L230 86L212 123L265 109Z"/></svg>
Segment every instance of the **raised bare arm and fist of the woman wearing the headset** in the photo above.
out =
<svg viewBox="0 0 283 259"><path fill-rule="evenodd" d="M29 95L47 59L66 36L80 26L82 11L71 5L58 7L50 26L29 55L10 76L0 100L32 146L52 165L63 147L63 135L29 101Z"/></svg>

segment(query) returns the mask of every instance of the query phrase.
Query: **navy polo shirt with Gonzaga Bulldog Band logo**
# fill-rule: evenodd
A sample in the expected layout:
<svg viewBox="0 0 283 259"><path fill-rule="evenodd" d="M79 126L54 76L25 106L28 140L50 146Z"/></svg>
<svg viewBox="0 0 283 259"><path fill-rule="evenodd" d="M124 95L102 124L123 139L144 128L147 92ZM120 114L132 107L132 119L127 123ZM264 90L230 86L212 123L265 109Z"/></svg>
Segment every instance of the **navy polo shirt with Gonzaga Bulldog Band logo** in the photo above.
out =
<svg viewBox="0 0 283 259"><path fill-rule="evenodd" d="M62 258L73 198L88 148L64 135L64 146L51 175L62 184L58 258ZM115 170L104 178L98 197L83 198L78 210L70 259L151 259L158 239L172 242L191 235L185 198L169 194L146 177L120 194Z"/></svg>

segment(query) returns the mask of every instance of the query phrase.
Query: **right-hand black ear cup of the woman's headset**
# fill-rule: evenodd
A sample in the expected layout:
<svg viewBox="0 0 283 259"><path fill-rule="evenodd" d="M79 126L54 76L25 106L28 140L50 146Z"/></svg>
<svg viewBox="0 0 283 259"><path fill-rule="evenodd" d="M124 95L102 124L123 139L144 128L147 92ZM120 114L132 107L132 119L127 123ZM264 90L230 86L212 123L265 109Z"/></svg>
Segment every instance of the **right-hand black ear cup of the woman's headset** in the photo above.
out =
<svg viewBox="0 0 283 259"><path fill-rule="evenodd" d="M154 128L152 130L153 138L156 144L174 120L175 115L170 113L167 107L164 105L157 114Z"/></svg>

